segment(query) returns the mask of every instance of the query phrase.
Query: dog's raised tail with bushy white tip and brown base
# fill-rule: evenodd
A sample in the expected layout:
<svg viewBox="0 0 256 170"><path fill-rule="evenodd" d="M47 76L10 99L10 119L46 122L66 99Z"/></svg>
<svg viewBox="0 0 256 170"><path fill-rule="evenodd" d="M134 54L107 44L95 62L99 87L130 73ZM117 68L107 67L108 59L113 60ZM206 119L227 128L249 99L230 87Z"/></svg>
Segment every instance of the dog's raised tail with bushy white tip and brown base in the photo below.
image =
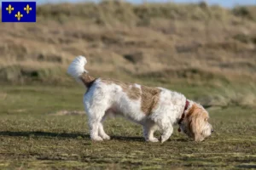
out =
<svg viewBox="0 0 256 170"><path fill-rule="evenodd" d="M90 88L96 78L90 77L88 71L84 69L87 60L84 56L79 56L73 59L73 62L68 66L67 74L74 77L78 82L83 82L84 86Z"/></svg>

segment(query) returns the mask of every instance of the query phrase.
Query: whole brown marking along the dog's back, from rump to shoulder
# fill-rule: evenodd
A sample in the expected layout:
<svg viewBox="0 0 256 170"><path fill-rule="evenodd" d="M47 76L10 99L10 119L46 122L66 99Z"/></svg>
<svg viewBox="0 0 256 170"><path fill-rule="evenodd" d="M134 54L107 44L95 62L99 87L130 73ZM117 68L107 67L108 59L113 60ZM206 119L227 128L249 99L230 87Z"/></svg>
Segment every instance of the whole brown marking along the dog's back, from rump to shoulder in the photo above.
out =
<svg viewBox="0 0 256 170"><path fill-rule="evenodd" d="M141 110L149 115L154 111L159 103L160 99L160 89L159 88L148 88L146 86L141 86L137 88L135 84L119 82L116 80L104 79L102 82L107 84L117 84L123 91L128 95L130 99L142 99Z"/></svg>

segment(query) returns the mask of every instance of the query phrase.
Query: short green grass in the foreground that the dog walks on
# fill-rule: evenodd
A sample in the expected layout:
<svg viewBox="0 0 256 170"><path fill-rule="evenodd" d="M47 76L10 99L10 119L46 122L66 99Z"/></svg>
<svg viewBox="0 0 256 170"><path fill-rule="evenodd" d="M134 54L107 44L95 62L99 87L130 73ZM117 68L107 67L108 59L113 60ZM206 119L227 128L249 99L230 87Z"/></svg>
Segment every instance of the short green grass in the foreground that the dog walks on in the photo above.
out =
<svg viewBox="0 0 256 170"><path fill-rule="evenodd" d="M196 88L183 88L186 95ZM251 107L211 107L216 133L202 143L177 128L164 144L146 143L142 127L124 119L105 122L110 141L90 141L84 88L3 86L0 102L1 169L239 169L255 168L256 128ZM53 95L54 94L54 95ZM4 101L4 102L3 102ZM159 134L157 134L159 135Z"/></svg>

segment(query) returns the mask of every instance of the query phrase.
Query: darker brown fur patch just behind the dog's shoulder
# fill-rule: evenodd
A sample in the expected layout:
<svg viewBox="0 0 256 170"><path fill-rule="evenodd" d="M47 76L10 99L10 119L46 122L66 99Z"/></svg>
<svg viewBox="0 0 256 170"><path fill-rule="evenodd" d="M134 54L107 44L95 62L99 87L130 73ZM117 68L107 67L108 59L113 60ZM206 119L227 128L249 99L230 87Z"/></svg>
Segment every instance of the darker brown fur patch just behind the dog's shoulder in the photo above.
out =
<svg viewBox="0 0 256 170"><path fill-rule="evenodd" d="M159 88L148 88L142 86L142 111L149 115L154 111L159 103L160 99L160 89Z"/></svg>

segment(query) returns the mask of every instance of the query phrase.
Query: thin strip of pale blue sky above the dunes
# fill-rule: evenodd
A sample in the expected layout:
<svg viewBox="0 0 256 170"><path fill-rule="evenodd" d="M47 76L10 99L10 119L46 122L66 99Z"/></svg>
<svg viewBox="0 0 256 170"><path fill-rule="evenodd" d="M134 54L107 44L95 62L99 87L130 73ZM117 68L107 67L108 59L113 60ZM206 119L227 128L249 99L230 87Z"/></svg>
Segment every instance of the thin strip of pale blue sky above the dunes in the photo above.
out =
<svg viewBox="0 0 256 170"><path fill-rule="evenodd" d="M3 0L6 1L23 1L23 0ZM35 1L35 0L24 0L24 1ZM97 2L99 0L37 0L37 3L62 3L62 2L69 2L69 3L79 3L79 2L88 2L88 1L94 1ZM145 1L145 0L144 0ZM198 3L201 2L201 0L147 0L148 2L153 3L166 3L166 2L173 2L173 3ZM2 0L1 0L2 2ZM143 0L126 0L126 2L130 3L142 3ZM207 0L206 1L209 4L218 4L220 6L223 6L225 8L232 8L236 5L256 5L256 0Z"/></svg>

